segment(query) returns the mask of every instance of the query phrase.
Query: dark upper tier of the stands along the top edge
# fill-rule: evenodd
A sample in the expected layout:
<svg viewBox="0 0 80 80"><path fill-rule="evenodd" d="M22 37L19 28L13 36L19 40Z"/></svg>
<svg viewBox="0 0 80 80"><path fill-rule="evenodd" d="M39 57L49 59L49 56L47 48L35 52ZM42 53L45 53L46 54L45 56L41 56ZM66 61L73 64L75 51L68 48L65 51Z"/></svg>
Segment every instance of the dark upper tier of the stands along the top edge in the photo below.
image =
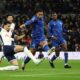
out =
<svg viewBox="0 0 80 80"><path fill-rule="evenodd" d="M56 6L57 5L57 6ZM45 12L49 13L52 10L63 13L79 13L79 0L2 0L0 10L3 12L26 13L32 14L36 7L42 7Z"/></svg>

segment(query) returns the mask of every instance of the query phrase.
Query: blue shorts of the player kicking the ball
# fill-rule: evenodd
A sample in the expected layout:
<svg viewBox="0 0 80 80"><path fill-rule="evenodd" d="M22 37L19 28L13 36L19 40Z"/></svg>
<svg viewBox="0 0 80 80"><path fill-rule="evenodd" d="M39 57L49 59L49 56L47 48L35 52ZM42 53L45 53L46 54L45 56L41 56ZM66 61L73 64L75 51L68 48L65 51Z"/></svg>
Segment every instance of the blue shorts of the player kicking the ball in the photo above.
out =
<svg viewBox="0 0 80 80"><path fill-rule="evenodd" d="M46 38L32 38L31 48L36 49L42 41L46 41Z"/></svg>

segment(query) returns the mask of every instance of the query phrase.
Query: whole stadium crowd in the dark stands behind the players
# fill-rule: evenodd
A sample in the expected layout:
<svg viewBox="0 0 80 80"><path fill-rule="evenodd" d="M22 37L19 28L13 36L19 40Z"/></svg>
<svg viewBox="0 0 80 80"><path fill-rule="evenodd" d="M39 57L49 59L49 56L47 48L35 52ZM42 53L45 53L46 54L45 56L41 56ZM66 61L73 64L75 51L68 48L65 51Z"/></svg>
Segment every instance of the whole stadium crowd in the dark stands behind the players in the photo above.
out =
<svg viewBox="0 0 80 80"><path fill-rule="evenodd" d="M48 4L49 2L49 4ZM35 3L35 4L34 4ZM15 32L17 35L26 34L22 40L16 41L17 44L31 44L31 29L20 29L19 26L32 17L36 7L41 7L45 14L45 34L48 31L48 22L51 12L58 12L59 19L64 22L63 35L68 43L69 51L79 51L80 46L80 14L79 0L3 0L0 6L5 5L0 10L0 26L8 14L14 16L16 23ZM57 6L56 6L57 5ZM4 15L3 15L4 13ZM74 14L73 14L74 13ZM32 26L32 25L31 25ZM47 35L47 34L46 34ZM49 40L50 42L50 40ZM50 44L51 45L51 44Z"/></svg>

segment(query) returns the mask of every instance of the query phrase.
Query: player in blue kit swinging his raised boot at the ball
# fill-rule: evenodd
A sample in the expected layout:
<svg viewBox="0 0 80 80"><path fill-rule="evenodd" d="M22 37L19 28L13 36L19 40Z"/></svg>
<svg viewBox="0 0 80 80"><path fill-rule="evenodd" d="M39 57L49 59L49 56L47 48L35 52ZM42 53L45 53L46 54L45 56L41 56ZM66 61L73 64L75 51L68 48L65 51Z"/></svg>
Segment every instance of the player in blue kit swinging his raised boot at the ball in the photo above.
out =
<svg viewBox="0 0 80 80"><path fill-rule="evenodd" d="M47 40L44 35L44 13L42 9L38 9L35 12L35 15L30 19L27 20L23 25L20 27L24 27L27 25L33 24L32 27L32 44L30 51L35 54L36 48L38 46L41 46L44 51L47 52L47 54L50 54L53 52L54 48L50 49L47 44ZM24 70L25 65L30 61L30 58L27 57L23 63L22 69Z"/></svg>

